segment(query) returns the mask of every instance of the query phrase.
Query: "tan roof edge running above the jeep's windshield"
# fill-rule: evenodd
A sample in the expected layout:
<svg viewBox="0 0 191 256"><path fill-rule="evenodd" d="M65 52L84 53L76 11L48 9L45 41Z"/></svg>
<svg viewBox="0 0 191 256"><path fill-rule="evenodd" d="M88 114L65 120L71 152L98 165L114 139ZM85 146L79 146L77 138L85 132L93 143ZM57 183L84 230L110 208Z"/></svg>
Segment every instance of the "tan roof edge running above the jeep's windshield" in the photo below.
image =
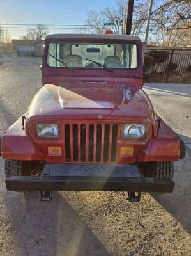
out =
<svg viewBox="0 0 191 256"><path fill-rule="evenodd" d="M108 39L141 41L141 39L138 36L113 34L52 34L46 36L45 40L47 39Z"/></svg>

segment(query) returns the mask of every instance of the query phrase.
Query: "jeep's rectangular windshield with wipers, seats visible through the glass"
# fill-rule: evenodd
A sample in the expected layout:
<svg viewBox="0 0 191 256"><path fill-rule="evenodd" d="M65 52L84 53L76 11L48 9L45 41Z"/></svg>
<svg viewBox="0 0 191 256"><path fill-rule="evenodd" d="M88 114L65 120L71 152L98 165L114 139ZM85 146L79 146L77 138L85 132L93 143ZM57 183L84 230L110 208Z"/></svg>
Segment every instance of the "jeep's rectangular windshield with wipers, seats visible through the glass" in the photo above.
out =
<svg viewBox="0 0 191 256"><path fill-rule="evenodd" d="M48 47L47 64L50 67L62 68L134 69L137 68L137 45L51 42Z"/></svg>

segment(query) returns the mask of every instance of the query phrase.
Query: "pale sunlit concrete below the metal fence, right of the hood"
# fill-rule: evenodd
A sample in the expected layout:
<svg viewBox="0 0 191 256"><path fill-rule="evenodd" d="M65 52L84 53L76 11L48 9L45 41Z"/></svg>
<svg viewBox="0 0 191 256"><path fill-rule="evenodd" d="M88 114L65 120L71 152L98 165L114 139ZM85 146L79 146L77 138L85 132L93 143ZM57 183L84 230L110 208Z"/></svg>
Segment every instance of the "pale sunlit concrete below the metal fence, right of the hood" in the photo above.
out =
<svg viewBox="0 0 191 256"><path fill-rule="evenodd" d="M145 83L155 109L191 149L191 84Z"/></svg>

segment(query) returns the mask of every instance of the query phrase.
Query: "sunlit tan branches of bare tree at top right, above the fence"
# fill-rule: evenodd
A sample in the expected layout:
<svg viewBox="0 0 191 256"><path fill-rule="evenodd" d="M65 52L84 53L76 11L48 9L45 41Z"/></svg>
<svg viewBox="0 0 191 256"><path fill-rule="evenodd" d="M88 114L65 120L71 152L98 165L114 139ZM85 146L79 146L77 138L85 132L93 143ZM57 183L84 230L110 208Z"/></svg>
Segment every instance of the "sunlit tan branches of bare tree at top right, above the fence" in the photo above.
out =
<svg viewBox="0 0 191 256"><path fill-rule="evenodd" d="M191 31L191 0L165 0L151 16L149 38L162 46L183 45Z"/></svg>

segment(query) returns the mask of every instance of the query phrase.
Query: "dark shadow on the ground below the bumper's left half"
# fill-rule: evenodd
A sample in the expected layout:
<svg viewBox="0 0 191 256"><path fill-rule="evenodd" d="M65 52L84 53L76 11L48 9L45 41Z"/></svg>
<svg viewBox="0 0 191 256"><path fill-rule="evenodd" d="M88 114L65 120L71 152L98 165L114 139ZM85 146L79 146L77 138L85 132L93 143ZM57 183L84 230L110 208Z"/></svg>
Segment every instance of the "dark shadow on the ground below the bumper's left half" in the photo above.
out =
<svg viewBox="0 0 191 256"><path fill-rule="evenodd" d="M109 256L103 244L80 220L65 198L57 191L53 196L54 200L41 202L37 192L21 194L22 216L14 202L6 202L9 212L14 212L11 221L17 234L18 255Z"/></svg>

